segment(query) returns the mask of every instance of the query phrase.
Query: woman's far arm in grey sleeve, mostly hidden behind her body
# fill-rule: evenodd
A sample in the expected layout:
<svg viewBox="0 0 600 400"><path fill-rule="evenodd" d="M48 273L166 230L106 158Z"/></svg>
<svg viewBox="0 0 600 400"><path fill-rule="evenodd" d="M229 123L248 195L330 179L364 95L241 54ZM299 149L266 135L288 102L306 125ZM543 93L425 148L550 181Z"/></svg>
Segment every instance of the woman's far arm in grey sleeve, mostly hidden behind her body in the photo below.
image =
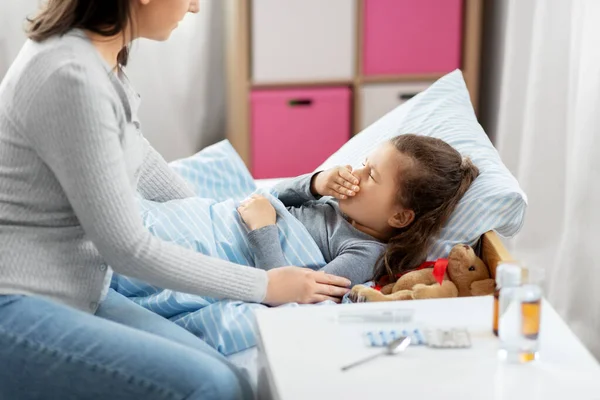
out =
<svg viewBox="0 0 600 400"><path fill-rule="evenodd" d="M163 203L169 200L194 197L188 183L177 174L165 159L146 140L146 156L140 171L138 192L147 200Z"/></svg>

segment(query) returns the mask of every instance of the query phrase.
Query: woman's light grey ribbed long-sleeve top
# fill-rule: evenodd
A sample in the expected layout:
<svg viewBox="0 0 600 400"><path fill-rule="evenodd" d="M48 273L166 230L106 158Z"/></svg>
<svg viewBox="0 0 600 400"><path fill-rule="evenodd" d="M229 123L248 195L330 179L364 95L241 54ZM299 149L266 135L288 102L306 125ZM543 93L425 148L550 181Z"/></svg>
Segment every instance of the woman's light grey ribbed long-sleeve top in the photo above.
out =
<svg viewBox="0 0 600 400"><path fill-rule="evenodd" d="M136 189L193 193L143 138L130 88L82 31L28 41L0 85L0 294L94 312L110 265L182 292L260 302L266 272L152 236Z"/></svg>

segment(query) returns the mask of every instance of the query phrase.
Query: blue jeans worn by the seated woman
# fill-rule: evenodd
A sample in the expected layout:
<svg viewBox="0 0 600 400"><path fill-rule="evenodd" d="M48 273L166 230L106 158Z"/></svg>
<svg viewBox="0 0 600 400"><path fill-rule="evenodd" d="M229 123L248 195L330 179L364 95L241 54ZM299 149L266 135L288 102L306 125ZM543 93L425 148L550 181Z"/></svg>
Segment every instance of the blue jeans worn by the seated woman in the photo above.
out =
<svg viewBox="0 0 600 400"><path fill-rule="evenodd" d="M251 399L202 340L110 290L96 315L0 296L0 399Z"/></svg>

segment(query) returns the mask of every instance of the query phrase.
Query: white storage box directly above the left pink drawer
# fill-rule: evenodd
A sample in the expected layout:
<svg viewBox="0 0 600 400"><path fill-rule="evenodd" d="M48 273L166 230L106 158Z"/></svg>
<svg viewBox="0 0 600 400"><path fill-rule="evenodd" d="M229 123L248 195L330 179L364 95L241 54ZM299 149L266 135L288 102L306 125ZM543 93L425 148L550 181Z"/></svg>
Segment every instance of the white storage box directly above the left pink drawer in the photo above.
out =
<svg viewBox="0 0 600 400"><path fill-rule="evenodd" d="M255 84L351 80L355 0L253 0Z"/></svg>

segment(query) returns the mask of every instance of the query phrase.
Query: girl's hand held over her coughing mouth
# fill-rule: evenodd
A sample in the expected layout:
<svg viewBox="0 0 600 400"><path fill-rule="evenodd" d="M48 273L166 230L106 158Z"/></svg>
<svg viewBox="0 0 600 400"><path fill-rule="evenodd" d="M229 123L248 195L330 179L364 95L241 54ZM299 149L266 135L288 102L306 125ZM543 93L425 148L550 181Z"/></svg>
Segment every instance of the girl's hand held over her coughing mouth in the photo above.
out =
<svg viewBox="0 0 600 400"><path fill-rule="evenodd" d="M356 196L360 180L352 174L352 167L334 167L313 176L310 190L319 196L333 196L344 200Z"/></svg>

